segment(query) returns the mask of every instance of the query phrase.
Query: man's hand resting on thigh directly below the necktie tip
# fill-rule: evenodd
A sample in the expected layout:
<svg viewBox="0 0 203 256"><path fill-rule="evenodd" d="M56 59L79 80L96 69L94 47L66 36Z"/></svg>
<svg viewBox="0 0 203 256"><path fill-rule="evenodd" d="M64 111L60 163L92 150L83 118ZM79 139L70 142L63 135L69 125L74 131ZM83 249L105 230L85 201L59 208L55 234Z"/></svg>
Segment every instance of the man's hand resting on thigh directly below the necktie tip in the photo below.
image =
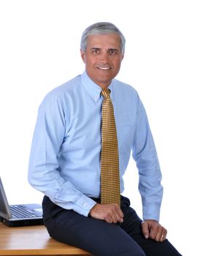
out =
<svg viewBox="0 0 203 256"><path fill-rule="evenodd" d="M95 219L103 219L108 223L123 222L123 211L115 203L100 204L96 203L89 215Z"/></svg>

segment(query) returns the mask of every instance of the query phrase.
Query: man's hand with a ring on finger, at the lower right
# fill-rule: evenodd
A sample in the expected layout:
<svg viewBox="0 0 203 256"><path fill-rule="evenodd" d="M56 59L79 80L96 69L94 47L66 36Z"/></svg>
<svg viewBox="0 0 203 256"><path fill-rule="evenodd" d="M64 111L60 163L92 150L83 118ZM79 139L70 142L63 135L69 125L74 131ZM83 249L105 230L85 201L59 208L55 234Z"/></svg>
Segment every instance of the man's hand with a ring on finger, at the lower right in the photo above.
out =
<svg viewBox="0 0 203 256"><path fill-rule="evenodd" d="M147 219L142 222L142 233L146 239L151 238L157 242L163 242L166 239L167 230L156 220Z"/></svg>

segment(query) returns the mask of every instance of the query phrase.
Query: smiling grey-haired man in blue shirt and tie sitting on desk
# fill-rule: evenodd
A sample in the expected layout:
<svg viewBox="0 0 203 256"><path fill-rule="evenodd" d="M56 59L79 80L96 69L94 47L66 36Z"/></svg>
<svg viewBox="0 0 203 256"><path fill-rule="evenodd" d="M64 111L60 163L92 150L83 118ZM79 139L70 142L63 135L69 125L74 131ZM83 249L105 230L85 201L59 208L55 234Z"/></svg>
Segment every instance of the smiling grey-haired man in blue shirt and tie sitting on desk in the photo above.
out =
<svg viewBox="0 0 203 256"><path fill-rule="evenodd" d="M161 171L145 109L137 91L114 79L124 50L125 38L112 23L96 23L83 32L85 72L51 91L40 105L28 181L45 194L45 226L58 241L93 255L180 255L158 223ZM106 108L111 110L103 112ZM111 149L104 154L106 141ZM143 222L129 199L120 196L131 151L139 170ZM110 178L104 178L105 168Z"/></svg>

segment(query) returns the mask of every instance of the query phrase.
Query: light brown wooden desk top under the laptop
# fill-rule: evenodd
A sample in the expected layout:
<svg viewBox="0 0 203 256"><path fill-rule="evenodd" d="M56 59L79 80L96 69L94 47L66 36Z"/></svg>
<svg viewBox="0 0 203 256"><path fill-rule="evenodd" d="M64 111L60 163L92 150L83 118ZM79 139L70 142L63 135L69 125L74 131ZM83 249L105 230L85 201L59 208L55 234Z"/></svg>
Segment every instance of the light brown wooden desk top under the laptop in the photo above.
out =
<svg viewBox="0 0 203 256"><path fill-rule="evenodd" d="M0 223L0 255L91 255L50 238L45 226L7 227Z"/></svg>

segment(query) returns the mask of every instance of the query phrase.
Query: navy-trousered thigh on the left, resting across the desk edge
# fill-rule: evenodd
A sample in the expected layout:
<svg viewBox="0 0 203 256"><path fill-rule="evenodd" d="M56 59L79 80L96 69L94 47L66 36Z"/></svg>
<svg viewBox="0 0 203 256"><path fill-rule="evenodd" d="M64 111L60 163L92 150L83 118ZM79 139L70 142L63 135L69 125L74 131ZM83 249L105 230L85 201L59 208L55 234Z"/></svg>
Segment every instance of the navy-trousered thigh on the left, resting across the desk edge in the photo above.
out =
<svg viewBox="0 0 203 256"><path fill-rule="evenodd" d="M45 226L58 241L80 247L93 255L145 256L141 247L118 225L83 217L55 206L48 197L42 203Z"/></svg>

